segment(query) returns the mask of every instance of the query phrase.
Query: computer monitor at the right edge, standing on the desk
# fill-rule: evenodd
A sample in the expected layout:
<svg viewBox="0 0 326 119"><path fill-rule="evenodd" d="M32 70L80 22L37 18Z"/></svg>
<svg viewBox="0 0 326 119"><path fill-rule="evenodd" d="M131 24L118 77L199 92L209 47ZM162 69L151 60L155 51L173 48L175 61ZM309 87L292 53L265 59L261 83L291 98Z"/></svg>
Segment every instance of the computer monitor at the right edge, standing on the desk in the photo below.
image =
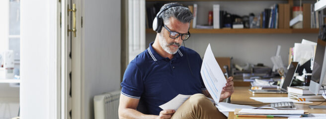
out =
<svg viewBox="0 0 326 119"><path fill-rule="evenodd" d="M324 36L325 37L325 36ZM326 39L318 38L314 59L313 73L311 76L309 91L318 95L324 81L326 81Z"/></svg>

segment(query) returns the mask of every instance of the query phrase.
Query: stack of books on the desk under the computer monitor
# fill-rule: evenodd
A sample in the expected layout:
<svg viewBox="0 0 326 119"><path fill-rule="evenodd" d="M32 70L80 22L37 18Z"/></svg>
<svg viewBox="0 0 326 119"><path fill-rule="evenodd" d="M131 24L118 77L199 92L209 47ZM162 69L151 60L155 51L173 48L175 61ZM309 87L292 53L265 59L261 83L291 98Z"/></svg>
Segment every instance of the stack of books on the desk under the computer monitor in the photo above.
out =
<svg viewBox="0 0 326 119"><path fill-rule="evenodd" d="M319 95L315 95L309 91L308 86L295 86L288 87L288 98L293 101L306 102L306 101L325 101L322 94L324 93L323 88L320 89Z"/></svg>

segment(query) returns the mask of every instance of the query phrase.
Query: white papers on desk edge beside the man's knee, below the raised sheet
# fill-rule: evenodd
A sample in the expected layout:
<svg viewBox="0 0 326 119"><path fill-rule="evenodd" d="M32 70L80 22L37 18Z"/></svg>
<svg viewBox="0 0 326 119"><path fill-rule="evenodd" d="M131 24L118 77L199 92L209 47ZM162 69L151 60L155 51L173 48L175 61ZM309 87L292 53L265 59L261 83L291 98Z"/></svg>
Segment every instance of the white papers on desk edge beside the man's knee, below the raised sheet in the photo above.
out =
<svg viewBox="0 0 326 119"><path fill-rule="evenodd" d="M234 112L236 109L253 109L256 107L221 102L216 105L220 112Z"/></svg>

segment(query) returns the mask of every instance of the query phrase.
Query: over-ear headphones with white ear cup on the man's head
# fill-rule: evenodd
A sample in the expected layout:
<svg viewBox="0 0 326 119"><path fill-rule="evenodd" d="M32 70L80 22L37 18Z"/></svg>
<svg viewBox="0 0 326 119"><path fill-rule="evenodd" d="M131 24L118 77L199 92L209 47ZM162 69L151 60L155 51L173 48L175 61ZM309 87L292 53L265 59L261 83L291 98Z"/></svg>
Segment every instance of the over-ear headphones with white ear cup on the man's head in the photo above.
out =
<svg viewBox="0 0 326 119"><path fill-rule="evenodd" d="M160 16L160 14L161 14L163 11L165 11L165 10L171 8L171 7L176 7L176 6L182 6L182 5L180 5L180 4L170 4L170 5L167 5L166 8L164 8L163 10L161 10L161 11L156 15L156 17L155 17L154 20L153 20L153 30L154 30L154 31L156 31L157 33L160 33L161 30L162 30L162 27L163 27L163 18ZM182 7L183 7L183 6L182 6Z"/></svg>

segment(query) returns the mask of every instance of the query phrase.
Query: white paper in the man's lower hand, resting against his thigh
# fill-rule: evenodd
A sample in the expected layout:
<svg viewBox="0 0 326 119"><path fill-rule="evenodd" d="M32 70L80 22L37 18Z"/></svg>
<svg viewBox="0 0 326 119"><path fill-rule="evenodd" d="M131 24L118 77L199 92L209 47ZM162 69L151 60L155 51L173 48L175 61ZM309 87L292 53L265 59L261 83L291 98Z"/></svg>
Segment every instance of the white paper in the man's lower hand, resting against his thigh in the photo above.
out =
<svg viewBox="0 0 326 119"><path fill-rule="evenodd" d="M177 110L191 95L177 95L169 102L159 106L163 110Z"/></svg>

